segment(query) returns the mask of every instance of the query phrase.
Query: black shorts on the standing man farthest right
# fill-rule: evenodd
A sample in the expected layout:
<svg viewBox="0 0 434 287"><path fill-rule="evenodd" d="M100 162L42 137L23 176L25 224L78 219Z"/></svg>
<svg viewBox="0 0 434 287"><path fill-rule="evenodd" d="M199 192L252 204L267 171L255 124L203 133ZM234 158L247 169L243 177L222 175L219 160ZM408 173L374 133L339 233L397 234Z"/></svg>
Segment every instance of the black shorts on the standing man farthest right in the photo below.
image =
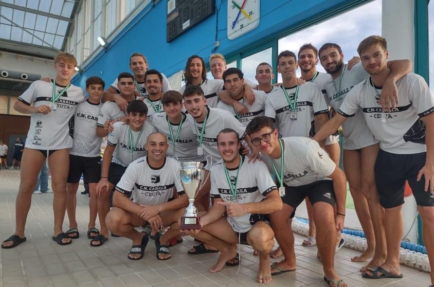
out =
<svg viewBox="0 0 434 287"><path fill-rule="evenodd" d="M405 181L411 187L417 205L434 206L434 194L425 191L425 177L417 181L425 162L426 152L395 154L379 150L375 162L375 183L384 208L404 204Z"/></svg>

